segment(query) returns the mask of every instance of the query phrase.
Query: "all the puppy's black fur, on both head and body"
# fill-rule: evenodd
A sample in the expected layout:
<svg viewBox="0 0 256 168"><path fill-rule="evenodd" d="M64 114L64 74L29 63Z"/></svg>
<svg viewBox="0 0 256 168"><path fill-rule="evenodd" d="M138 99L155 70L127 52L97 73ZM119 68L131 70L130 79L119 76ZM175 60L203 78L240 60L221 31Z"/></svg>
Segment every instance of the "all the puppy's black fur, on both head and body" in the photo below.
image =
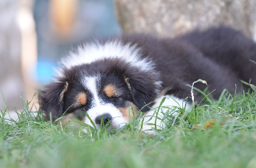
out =
<svg viewBox="0 0 256 168"><path fill-rule="evenodd" d="M133 102L138 108L154 101L163 90L164 94L182 99L189 97L191 88L187 85L192 85L198 79L207 81L209 92L215 90L212 92L215 99L225 88L234 93L237 86L239 92L242 87L240 80L251 80L252 84L256 84L256 65L250 62L250 59L256 60L256 45L241 32L229 27L193 31L172 39L138 34L120 39L124 44L140 47L141 59L149 57L156 67L146 72L119 59L104 59L65 70L63 78L58 78L39 92L40 110L44 111L46 120L49 120L50 114L55 120L65 112L76 111L71 107L72 99L77 91L84 90L79 78L93 73L100 73L102 85L109 80L115 82L122 90L120 100ZM162 87L154 84L159 80ZM65 83L68 83L68 88L61 97ZM204 90L205 85L196 83L195 87ZM247 90L248 86L243 85L243 88ZM195 100L200 99L201 95L195 92ZM107 97L106 101L113 100ZM118 103L113 101L115 106L124 106L124 101ZM146 106L143 111L148 109Z"/></svg>

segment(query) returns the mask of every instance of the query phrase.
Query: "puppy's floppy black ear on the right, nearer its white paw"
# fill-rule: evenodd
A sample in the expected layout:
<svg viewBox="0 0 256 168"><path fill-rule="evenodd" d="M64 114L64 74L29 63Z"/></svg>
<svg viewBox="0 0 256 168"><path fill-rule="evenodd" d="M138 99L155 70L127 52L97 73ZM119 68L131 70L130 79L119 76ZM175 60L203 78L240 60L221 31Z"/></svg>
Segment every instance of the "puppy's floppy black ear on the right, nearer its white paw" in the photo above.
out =
<svg viewBox="0 0 256 168"><path fill-rule="evenodd" d="M134 104L146 112L159 94L160 85L146 73L137 73L125 76L127 87L131 90Z"/></svg>

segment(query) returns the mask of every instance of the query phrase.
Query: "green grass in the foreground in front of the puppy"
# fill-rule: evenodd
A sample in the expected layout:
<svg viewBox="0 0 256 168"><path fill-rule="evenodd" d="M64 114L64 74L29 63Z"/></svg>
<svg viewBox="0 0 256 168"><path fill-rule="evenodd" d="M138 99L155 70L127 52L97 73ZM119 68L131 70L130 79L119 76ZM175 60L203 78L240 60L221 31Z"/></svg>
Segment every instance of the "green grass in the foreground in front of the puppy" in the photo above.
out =
<svg viewBox="0 0 256 168"><path fill-rule="evenodd" d="M140 132L138 120L84 134L44 122L23 101L18 121L1 110L0 167L256 167L255 100L256 92L224 90L189 113L177 108L174 125L154 137Z"/></svg>

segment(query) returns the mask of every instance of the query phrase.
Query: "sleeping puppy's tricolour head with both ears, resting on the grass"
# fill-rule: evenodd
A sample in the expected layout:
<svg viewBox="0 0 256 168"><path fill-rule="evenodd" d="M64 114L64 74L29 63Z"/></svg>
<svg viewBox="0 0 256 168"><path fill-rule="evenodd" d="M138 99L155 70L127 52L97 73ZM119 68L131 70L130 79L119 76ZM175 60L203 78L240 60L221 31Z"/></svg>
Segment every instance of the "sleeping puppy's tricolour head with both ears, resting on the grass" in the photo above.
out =
<svg viewBox="0 0 256 168"><path fill-rule="evenodd" d="M159 94L154 69L146 71L118 57L64 66L60 72L39 92L40 110L46 120L50 116L56 120L65 113L88 125L94 122L97 128L102 121L110 123L109 129L116 129L133 118L131 107L135 115L140 109L148 111Z"/></svg>

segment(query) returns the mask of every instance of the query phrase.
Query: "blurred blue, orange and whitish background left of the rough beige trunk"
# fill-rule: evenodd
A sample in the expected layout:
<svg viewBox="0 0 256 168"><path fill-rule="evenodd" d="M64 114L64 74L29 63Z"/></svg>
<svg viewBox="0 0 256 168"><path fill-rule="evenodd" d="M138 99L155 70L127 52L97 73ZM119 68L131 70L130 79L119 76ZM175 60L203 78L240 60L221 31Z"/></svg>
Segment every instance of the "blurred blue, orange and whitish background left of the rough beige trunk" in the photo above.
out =
<svg viewBox="0 0 256 168"><path fill-rule="evenodd" d="M81 41L121 33L113 1L1 0L0 109L37 103L36 90L51 81L58 60ZM4 97L4 101L2 101Z"/></svg>

